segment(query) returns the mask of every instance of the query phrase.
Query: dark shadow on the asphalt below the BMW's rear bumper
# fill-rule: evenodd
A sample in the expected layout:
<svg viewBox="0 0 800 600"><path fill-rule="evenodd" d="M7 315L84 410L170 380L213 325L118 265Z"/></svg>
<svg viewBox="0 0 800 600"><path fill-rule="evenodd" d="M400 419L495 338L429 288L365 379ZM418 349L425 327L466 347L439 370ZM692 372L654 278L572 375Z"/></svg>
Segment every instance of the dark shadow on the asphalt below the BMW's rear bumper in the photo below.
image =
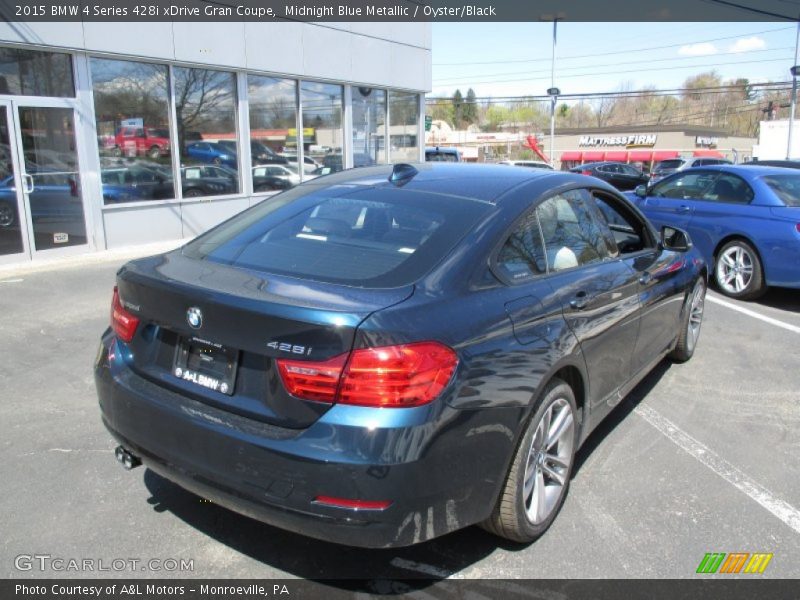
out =
<svg viewBox="0 0 800 600"><path fill-rule="evenodd" d="M341 580L340 584L334 584L344 589L393 593L391 587L385 589L392 585L387 582L409 578L419 580L419 585L412 587L425 587L463 571L498 548L514 551L526 547L505 542L479 527L468 527L407 548L351 548L239 515L184 490L150 469L145 471L144 482L152 494L147 501L154 510L167 511L217 542L264 565L305 579L328 583ZM422 570L418 565L423 565Z"/></svg>

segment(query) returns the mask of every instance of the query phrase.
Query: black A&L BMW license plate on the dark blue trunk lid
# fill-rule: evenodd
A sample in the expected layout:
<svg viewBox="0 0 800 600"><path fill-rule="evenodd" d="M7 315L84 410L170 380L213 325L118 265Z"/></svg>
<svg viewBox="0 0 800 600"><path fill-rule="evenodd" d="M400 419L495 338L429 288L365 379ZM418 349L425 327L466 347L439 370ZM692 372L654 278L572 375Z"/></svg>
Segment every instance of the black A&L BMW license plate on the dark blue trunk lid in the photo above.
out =
<svg viewBox="0 0 800 600"><path fill-rule="evenodd" d="M232 396L239 368L239 351L196 337L179 337L172 374L199 388Z"/></svg>

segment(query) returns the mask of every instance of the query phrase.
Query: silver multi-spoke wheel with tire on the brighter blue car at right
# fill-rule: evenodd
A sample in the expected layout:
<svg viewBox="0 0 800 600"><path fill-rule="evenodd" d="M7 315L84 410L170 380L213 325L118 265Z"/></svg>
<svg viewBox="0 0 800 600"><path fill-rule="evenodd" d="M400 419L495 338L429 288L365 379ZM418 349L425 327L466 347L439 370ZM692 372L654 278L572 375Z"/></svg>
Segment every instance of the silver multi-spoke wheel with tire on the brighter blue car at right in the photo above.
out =
<svg viewBox="0 0 800 600"><path fill-rule="evenodd" d="M714 282L720 292L738 300L755 300L767 291L758 252L744 240L732 240L720 248Z"/></svg>

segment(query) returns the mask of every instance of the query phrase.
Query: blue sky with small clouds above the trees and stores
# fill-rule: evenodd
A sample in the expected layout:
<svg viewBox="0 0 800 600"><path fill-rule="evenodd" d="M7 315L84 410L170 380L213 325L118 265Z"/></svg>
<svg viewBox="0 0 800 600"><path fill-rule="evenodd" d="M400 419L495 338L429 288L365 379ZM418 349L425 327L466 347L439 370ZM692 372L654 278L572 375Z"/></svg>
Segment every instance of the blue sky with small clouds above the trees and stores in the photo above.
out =
<svg viewBox="0 0 800 600"><path fill-rule="evenodd" d="M433 92L479 97L544 95L553 24L434 23ZM790 81L794 23L559 22L555 85L562 94L630 87L674 89L716 70L727 81ZM486 64L479 64L486 63Z"/></svg>

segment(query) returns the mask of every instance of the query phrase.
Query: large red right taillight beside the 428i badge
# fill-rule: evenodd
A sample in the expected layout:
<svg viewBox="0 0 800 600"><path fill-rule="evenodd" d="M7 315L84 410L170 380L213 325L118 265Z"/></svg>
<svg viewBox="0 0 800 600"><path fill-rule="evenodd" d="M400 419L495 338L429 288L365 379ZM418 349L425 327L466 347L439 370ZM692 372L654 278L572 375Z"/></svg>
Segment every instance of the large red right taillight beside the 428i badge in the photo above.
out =
<svg viewBox="0 0 800 600"><path fill-rule="evenodd" d="M458 364L437 342L363 348L324 362L278 359L278 372L293 396L358 406L408 407L432 402Z"/></svg>

